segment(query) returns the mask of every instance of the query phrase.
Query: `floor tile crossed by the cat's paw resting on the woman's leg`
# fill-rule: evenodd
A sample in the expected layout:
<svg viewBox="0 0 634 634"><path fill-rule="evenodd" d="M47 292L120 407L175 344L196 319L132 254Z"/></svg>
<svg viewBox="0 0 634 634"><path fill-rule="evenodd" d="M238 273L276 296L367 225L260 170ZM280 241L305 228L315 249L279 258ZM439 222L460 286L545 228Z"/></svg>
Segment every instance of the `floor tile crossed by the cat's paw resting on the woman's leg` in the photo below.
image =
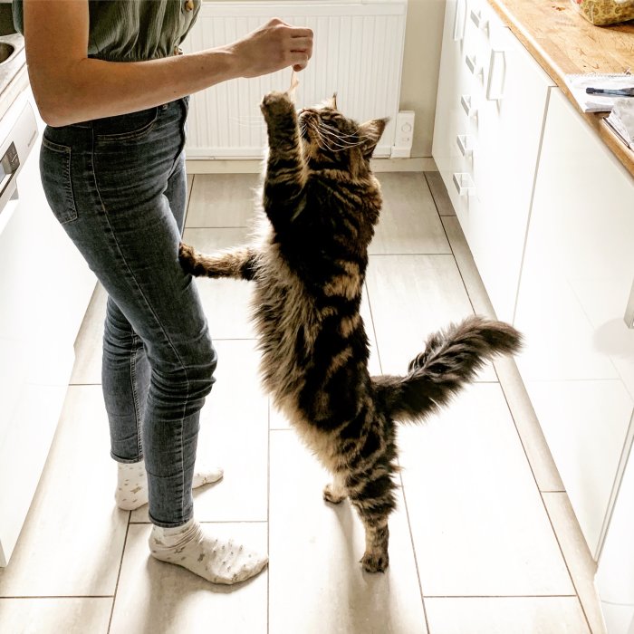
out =
<svg viewBox="0 0 634 634"><path fill-rule="evenodd" d="M232 246L245 245L249 241L249 236L244 227L186 229L183 239L198 251L213 254ZM213 280L200 277L196 278L196 284L213 340L255 337L251 325L251 283L244 280Z"/></svg>

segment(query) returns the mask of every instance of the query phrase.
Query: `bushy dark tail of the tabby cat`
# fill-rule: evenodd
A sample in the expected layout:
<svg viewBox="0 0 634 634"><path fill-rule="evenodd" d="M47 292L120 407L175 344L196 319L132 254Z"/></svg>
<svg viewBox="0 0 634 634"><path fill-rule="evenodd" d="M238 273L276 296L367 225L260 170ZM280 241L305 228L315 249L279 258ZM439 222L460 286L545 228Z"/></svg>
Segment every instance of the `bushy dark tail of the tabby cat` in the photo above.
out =
<svg viewBox="0 0 634 634"><path fill-rule="evenodd" d="M427 339L405 377L372 377L379 403L400 422L421 421L437 412L473 380L486 360L514 354L522 335L513 326L474 316Z"/></svg>

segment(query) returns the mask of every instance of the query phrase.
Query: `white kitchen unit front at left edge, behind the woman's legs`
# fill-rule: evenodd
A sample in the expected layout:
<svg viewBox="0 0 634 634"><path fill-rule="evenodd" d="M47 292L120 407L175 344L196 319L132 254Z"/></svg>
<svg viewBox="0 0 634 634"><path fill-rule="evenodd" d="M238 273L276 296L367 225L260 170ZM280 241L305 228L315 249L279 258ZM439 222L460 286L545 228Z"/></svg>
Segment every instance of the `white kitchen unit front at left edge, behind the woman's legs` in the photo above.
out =
<svg viewBox="0 0 634 634"><path fill-rule="evenodd" d="M43 472L96 283L44 196L44 124L29 89L5 119L29 104L37 131L16 177L14 214L0 235L0 567L14 551Z"/></svg>

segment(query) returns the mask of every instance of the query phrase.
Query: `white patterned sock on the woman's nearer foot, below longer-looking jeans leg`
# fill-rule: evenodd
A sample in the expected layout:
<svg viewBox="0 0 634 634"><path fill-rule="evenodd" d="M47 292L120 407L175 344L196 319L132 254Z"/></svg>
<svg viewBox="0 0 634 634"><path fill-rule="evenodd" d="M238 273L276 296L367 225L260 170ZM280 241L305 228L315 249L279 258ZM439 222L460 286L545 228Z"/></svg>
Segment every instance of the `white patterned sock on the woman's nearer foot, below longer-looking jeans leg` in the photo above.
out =
<svg viewBox="0 0 634 634"><path fill-rule="evenodd" d="M232 540L203 532L193 519L177 528L153 526L149 551L161 562L176 563L212 583L238 583L260 572L268 557Z"/></svg>

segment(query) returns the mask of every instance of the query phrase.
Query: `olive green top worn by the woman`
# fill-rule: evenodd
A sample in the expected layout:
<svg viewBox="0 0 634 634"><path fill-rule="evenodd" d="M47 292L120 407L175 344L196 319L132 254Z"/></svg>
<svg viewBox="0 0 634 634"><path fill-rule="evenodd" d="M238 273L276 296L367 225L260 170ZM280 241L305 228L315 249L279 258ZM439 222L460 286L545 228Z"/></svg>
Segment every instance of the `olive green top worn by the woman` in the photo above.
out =
<svg viewBox="0 0 634 634"><path fill-rule="evenodd" d="M24 34L23 0L13 0L14 26ZM88 55L139 62L178 53L201 0L88 0Z"/></svg>

